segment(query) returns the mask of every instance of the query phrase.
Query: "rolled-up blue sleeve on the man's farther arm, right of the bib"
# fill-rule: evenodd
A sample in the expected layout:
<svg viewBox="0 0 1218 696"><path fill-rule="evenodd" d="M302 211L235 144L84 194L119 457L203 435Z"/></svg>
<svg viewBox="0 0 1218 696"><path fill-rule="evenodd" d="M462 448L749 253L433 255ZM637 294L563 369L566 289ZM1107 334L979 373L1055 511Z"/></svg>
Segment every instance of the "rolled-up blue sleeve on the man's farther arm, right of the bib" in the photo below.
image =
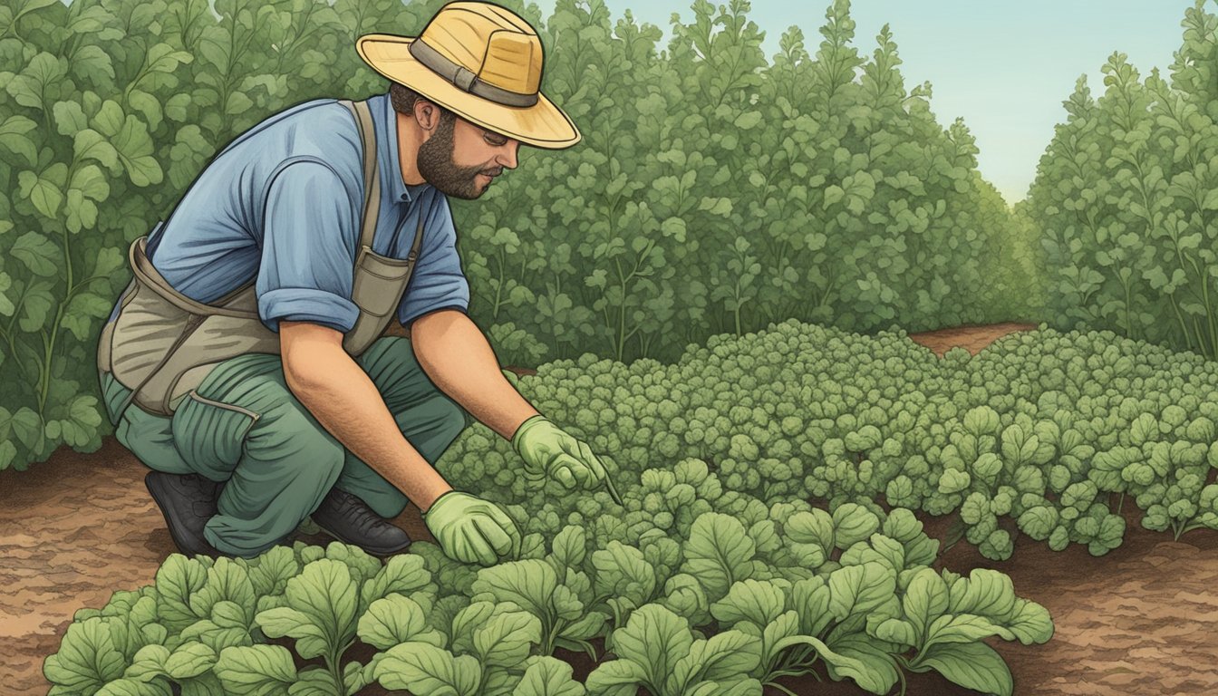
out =
<svg viewBox="0 0 1218 696"><path fill-rule="evenodd" d="M404 325L436 310L469 312L469 280L457 255L457 229L448 201L437 196L428 215L419 261L398 304L397 318Z"/></svg>

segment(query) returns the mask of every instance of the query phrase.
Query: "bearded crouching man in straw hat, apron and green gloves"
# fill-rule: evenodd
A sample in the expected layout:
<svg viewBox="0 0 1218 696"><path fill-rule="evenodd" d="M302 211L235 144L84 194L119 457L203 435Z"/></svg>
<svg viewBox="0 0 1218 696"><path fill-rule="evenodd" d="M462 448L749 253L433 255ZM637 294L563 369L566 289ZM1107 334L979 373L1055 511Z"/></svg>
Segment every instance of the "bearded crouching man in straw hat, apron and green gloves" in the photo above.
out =
<svg viewBox="0 0 1218 696"><path fill-rule="evenodd" d="M521 143L569 147L538 91L524 20L451 2L418 38L357 40L391 80L363 102L292 106L234 139L169 221L99 345L119 441L186 553L251 557L309 514L392 555L408 501L445 552L491 564L519 542L496 505L432 463L469 424L510 439L532 478L592 488L588 446L541 416L469 319L446 196L476 199ZM410 340L382 336L391 318Z"/></svg>

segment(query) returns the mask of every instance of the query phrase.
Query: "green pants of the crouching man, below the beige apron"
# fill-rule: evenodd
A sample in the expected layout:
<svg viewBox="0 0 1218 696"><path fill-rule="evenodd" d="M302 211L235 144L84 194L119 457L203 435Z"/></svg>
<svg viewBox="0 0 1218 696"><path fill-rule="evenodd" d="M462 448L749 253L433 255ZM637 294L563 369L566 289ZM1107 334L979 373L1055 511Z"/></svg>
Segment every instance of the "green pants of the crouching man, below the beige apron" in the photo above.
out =
<svg viewBox="0 0 1218 696"><path fill-rule="evenodd" d="M406 439L435 464L473 419L419 367L410 343L385 336L356 362L368 373ZM111 422L129 390L102 373ZM219 551L256 556L291 534L331 486L382 517L406 496L348 452L292 395L278 355L251 353L216 367L172 417L136 406L116 423L118 441L150 468L224 481L219 513L203 530Z"/></svg>

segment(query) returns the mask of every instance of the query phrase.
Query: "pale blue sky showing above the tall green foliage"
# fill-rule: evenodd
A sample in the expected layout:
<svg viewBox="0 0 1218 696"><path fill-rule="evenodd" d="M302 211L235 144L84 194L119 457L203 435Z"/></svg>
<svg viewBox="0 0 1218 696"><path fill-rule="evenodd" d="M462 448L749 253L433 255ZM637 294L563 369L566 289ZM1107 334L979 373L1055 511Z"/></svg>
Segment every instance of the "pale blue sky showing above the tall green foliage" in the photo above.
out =
<svg viewBox="0 0 1218 696"><path fill-rule="evenodd" d="M553 0L533 0L544 15ZM604 0L616 22L630 9L638 22L665 32L669 17L693 17L687 0ZM719 4L726 4L722 0ZM772 56L787 27L804 32L810 54L820 45L820 27L832 0L754 0L749 18L765 30ZM978 167L1006 199L1022 200L1037 162L1066 119L1065 101L1078 76L1086 73L1091 93L1104 90L1100 68L1113 51L1145 76L1158 67L1169 73L1180 48L1184 11L1194 0L854 0L855 46L870 56L876 34L888 23L903 65L906 89L931 80L931 111L944 127L957 116L977 138ZM1207 0L1206 11L1218 7Z"/></svg>

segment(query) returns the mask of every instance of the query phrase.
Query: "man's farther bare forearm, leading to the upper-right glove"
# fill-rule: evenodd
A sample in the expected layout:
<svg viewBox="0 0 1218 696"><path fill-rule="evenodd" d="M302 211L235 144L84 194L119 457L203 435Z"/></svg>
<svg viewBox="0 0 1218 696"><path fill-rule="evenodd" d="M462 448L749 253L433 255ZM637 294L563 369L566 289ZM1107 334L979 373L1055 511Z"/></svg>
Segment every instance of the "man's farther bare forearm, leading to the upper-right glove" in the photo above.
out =
<svg viewBox="0 0 1218 696"><path fill-rule="evenodd" d="M410 343L431 382L502 438L512 439L525 419L538 414L503 377L486 336L463 312L419 317Z"/></svg>

